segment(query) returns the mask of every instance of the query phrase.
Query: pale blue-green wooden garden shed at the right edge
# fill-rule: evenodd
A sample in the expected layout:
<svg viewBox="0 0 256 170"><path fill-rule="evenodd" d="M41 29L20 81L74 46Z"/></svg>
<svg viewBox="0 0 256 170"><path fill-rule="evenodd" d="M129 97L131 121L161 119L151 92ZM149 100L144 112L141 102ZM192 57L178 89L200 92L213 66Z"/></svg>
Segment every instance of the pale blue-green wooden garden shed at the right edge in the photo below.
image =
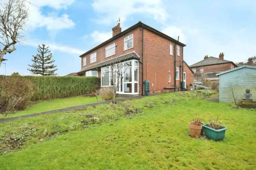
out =
<svg viewBox="0 0 256 170"><path fill-rule="evenodd" d="M234 97L243 98L246 89L250 89L253 99L256 100L256 67L240 66L216 74L219 76L219 101L233 102L231 87Z"/></svg>

